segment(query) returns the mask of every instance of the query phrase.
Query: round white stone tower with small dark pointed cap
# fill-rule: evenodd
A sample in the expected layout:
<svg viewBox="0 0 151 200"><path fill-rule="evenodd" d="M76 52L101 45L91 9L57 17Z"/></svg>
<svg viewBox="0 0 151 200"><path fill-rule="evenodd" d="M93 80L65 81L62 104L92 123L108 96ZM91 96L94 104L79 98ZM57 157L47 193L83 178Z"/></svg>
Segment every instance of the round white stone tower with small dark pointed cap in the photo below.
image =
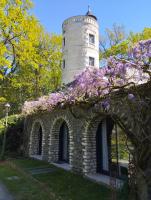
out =
<svg viewBox="0 0 151 200"><path fill-rule="evenodd" d="M62 83L68 84L84 68L99 68L99 26L89 9L86 15L66 19L62 31Z"/></svg>

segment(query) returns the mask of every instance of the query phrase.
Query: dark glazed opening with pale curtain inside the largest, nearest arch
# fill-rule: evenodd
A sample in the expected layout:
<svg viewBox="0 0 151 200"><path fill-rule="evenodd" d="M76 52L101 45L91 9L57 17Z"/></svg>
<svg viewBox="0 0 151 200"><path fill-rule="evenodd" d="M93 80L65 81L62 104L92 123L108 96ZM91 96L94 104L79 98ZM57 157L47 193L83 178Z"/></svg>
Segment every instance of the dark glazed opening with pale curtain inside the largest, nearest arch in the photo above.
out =
<svg viewBox="0 0 151 200"><path fill-rule="evenodd" d="M125 134L111 119L101 121L96 131L96 172L114 177L127 177L129 153Z"/></svg>

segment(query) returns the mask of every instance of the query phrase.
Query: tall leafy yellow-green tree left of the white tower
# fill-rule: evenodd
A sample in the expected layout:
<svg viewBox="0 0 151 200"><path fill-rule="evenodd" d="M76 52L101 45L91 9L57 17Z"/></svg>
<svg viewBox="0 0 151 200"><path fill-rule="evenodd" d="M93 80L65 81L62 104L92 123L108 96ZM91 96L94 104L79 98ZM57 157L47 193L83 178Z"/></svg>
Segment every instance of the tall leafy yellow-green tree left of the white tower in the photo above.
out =
<svg viewBox="0 0 151 200"><path fill-rule="evenodd" d="M62 37L46 33L31 7L31 0L0 3L0 102L10 102L12 113L61 83Z"/></svg>

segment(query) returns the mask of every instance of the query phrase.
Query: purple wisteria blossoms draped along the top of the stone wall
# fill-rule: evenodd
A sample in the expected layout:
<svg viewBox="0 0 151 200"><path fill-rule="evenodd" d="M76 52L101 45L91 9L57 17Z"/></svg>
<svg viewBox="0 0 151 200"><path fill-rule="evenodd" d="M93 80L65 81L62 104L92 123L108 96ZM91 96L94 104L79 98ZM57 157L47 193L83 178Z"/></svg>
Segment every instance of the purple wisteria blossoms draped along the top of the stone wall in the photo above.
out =
<svg viewBox="0 0 151 200"><path fill-rule="evenodd" d="M99 69L86 68L66 89L40 97L37 101L25 102L23 114L51 111L57 106L102 98L130 83L142 84L149 81L150 73L151 40L141 41L130 50L127 60L110 57L107 66ZM132 95L129 95L129 98L132 98Z"/></svg>

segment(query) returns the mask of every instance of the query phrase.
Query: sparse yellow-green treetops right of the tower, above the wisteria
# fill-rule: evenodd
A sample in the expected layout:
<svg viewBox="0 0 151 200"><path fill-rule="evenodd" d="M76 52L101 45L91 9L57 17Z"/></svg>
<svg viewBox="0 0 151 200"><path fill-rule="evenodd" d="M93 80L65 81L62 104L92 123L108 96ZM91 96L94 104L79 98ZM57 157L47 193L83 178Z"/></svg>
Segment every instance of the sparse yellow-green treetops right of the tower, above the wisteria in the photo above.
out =
<svg viewBox="0 0 151 200"><path fill-rule="evenodd" d="M106 30L107 38L100 41L100 60L110 56L126 58L130 47L133 47L141 40L151 38L151 28L144 28L141 33L130 32L126 37L123 26L113 25L112 29Z"/></svg>

